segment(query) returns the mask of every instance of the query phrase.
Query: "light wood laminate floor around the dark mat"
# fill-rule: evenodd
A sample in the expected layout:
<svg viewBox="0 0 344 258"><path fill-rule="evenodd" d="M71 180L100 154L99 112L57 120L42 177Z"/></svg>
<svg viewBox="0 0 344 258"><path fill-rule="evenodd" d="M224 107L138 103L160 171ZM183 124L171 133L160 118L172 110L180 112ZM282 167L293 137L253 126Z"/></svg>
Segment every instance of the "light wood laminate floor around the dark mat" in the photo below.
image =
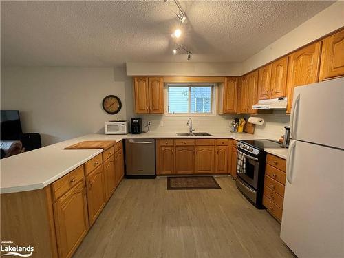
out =
<svg viewBox="0 0 344 258"><path fill-rule="evenodd" d="M222 189L166 190L166 178L122 180L74 258L294 257L281 226L230 177Z"/></svg>

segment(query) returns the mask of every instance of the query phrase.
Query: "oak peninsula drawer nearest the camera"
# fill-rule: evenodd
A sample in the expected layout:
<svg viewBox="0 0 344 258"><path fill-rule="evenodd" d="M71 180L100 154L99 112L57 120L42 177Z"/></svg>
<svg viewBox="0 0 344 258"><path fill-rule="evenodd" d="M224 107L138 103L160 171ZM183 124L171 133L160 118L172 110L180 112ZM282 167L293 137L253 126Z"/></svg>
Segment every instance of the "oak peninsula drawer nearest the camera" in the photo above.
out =
<svg viewBox="0 0 344 258"><path fill-rule="evenodd" d="M78 184L80 180L84 178L84 168L83 166L79 166L77 169L67 173L67 175L63 176L52 183L52 195L54 196L54 200L61 197L63 193L72 189L73 186Z"/></svg>

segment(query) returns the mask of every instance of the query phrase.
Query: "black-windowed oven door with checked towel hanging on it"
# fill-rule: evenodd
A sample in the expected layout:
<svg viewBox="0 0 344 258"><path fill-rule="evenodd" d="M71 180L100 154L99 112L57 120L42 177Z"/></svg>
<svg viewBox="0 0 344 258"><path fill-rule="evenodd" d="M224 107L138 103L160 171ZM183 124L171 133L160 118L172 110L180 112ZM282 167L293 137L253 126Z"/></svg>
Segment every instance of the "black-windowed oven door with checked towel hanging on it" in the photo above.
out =
<svg viewBox="0 0 344 258"><path fill-rule="evenodd" d="M238 155L244 155L245 169L242 173L237 173L242 180L249 184L253 189L258 188L258 171L259 171L259 160L258 158L252 157L238 149ZM238 159L239 160L239 159Z"/></svg>

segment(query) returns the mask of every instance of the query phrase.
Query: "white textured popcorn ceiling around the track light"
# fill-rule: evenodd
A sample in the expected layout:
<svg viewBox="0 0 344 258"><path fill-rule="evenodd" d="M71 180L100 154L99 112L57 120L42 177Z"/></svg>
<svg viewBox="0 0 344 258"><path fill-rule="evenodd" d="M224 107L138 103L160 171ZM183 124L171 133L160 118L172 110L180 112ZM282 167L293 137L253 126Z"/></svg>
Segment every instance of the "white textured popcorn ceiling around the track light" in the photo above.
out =
<svg viewBox="0 0 344 258"><path fill-rule="evenodd" d="M191 62L241 62L332 1L182 1ZM1 64L117 66L173 56L167 1L1 1Z"/></svg>

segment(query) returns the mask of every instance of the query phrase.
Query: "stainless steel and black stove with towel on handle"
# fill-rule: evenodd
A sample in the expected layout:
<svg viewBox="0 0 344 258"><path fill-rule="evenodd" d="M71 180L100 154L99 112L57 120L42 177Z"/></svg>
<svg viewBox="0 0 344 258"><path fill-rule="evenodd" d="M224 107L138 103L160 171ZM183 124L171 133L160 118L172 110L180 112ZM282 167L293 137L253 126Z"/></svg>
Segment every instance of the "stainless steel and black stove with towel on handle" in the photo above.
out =
<svg viewBox="0 0 344 258"><path fill-rule="evenodd" d="M272 140L240 140L237 143L238 159L243 160L237 171L237 188L257 208L263 208L263 190L266 153L264 148L281 148L279 142Z"/></svg>

